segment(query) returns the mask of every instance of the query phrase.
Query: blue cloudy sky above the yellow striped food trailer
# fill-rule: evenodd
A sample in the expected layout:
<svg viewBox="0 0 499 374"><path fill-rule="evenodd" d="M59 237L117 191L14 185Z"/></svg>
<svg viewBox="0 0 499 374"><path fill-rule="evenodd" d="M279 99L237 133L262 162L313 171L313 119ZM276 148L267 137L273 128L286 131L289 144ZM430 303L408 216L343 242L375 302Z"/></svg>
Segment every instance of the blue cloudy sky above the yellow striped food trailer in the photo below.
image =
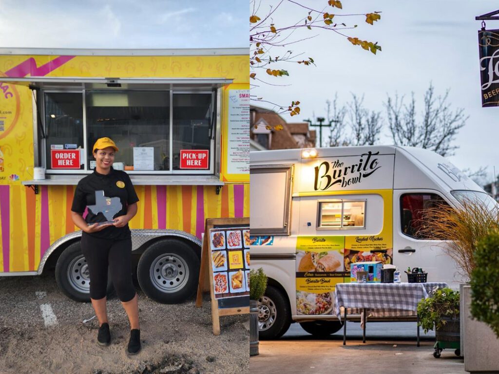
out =
<svg viewBox="0 0 499 374"><path fill-rule="evenodd" d="M248 46L248 1L0 0L0 47Z"/></svg>

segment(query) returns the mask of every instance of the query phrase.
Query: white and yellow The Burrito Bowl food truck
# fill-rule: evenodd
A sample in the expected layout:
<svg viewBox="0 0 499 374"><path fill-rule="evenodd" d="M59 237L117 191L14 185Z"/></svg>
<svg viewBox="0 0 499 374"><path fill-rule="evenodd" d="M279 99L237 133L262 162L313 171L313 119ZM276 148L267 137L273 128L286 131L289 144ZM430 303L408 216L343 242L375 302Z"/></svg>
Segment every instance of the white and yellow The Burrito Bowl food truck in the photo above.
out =
<svg viewBox="0 0 499 374"><path fill-rule="evenodd" d="M259 303L260 336L277 338L291 322L331 334L335 284L350 264L381 261L428 272L428 282L459 288L445 240L418 233L425 209L466 198L495 204L445 158L397 146L250 152L251 266L268 287ZM426 224L431 224L427 222Z"/></svg>

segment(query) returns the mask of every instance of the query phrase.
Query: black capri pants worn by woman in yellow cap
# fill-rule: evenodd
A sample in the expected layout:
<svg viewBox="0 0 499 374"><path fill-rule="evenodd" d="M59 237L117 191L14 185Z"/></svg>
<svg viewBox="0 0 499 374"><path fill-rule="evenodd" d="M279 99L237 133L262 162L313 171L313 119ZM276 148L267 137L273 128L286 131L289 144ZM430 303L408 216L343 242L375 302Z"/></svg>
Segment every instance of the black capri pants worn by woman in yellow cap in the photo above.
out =
<svg viewBox="0 0 499 374"><path fill-rule="evenodd" d="M132 239L101 239L82 233L81 251L90 272L90 297L102 299L107 291L107 270L122 302L135 297L132 281Z"/></svg>

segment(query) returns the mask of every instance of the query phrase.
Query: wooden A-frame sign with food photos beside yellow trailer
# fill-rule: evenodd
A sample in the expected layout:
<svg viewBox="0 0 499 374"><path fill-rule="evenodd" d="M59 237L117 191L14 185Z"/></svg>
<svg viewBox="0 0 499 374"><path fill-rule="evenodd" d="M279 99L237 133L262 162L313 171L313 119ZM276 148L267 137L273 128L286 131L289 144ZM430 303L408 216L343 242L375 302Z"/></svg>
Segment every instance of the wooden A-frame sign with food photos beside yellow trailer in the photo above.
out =
<svg viewBox="0 0 499 374"><path fill-rule="evenodd" d="M220 335L220 316L250 313L249 277L250 218L208 218L196 307L203 305L208 278L214 335Z"/></svg>

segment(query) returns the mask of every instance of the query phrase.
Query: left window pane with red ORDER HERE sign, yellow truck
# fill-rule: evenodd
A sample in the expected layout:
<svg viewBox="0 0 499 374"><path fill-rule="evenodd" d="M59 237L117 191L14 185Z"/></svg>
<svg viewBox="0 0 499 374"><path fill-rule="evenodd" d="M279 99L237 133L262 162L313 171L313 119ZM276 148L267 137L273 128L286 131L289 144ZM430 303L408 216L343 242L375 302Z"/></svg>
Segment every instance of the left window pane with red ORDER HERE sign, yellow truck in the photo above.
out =
<svg viewBox="0 0 499 374"><path fill-rule="evenodd" d="M75 151L83 149L83 96L81 92L45 92L44 102L45 168L83 169L84 155Z"/></svg>

